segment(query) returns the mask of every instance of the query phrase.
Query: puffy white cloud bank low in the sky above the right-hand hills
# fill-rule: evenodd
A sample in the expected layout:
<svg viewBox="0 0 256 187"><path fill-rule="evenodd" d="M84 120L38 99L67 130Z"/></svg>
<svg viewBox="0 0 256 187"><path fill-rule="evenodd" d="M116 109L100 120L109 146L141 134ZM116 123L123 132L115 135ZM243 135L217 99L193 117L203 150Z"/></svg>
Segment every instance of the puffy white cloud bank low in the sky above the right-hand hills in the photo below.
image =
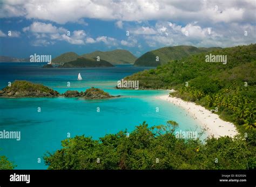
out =
<svg viewBox="0 0 256 187"><path fill-rule="evenodd" d="M169 21L158 21L153 30L153 35L143 35L144 40L150 47L193 45L198 47L228 47L245 45L256 41L255 27L247 24L219 25L217 28L201 27L197 22L185 26L177 25ZM245 31L247 35L245 35Z"/></svg>

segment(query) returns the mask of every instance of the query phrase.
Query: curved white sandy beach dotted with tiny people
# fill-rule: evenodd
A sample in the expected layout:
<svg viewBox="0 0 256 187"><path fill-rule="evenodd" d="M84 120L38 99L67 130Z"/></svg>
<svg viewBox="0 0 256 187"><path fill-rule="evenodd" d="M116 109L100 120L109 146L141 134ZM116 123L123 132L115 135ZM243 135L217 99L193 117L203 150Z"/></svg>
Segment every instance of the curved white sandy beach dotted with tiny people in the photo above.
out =
<svg viewBox="0 0 256 187"><path fill-rule="evenodd" d="M187 115L191 116L194 120L198 120L210 136L213 135L215 138L218 138L227 135L233 138L238 133L234 124L220 119L217 114L212 113L203 106L192 102L185 102L180 98L169 97L169 95L157 96L156 98L167 100L173 105L183 107L187 111Z"/></svg>

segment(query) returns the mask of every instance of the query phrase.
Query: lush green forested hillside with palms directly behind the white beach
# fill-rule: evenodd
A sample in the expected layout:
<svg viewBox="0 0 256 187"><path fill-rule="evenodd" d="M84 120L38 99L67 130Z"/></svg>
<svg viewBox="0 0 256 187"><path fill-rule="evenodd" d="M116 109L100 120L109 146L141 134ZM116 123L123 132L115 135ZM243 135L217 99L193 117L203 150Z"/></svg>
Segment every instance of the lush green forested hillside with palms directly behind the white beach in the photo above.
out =
<svg viewBox="0 0 256 187"><path fill-rule="evenodd" d="M206 62L206 55L227 55L227 63ZM156 69L125 77L140 89L175 89L173 96L208 109L246 129L256 127L256 45L204 52L169 61ZM187 87L186 87L187 85Z"/></svg>

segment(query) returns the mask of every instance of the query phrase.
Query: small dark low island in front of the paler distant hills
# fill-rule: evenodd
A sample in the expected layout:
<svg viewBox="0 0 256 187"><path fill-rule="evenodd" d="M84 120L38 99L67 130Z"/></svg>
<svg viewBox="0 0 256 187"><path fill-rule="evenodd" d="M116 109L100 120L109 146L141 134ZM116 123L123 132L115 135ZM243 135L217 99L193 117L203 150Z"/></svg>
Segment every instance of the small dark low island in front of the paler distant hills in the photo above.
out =
<svg viewBox="0 0 256 187"><path fill-rule="evenodd" d="M58 66L58 68L93 68L93 67L113 67L113 65L105 60L97 61L96 59L86 59L78 57L78 59L65 62Z"/></svg>

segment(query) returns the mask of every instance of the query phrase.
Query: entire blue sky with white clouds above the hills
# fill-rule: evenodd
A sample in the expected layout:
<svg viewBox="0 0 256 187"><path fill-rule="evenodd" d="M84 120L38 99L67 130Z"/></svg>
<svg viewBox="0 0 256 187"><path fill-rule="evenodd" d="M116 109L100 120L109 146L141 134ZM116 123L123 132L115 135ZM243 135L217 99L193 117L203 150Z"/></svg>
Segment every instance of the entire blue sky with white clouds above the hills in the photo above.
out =
<svg viewBox="0 0 256 187"><path fill-rule="evenodd" d="M165 46L230 47L256 40L256 5L250 0L23 0L4 1L0 9L4 56L113 49L140 56Z"/></svg>

